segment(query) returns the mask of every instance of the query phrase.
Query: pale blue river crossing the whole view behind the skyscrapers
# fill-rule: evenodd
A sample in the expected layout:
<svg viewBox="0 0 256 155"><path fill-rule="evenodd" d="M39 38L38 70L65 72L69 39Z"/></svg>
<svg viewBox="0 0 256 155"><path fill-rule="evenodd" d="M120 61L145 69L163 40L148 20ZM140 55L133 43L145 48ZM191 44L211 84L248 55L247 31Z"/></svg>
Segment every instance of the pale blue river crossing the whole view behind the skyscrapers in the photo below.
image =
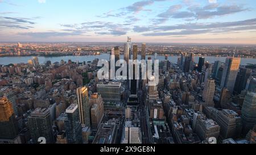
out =
<svg viewBox="0 0 256 155"><path fill-rule="evenodd" d="M155 56L146 56L151 57L154 60ZM168 56L168 60L172 63L177 63L177 58L180 56ZM0 64L2 65L9 65L9 64L19 64L19 63L27 63L28 60L30 60L32 56L21 56L21 57L0 57ZM88 62L93 61L95 58L99 59L105 59L109 60L110 56L109 54L101 54L101 55L90 55L90 56L55 56L55 57L42 57L39 56L39 62L40 64L46 63L46 61L54 62L60 62L61 60L68 61L72 60L76 62L77 60L79 62ZM121 55L121 58L123 58L123 55ZM141 56L138 56L140 59ZM220 60L222 62L225 62L226 57L214 57L214 56L205 56L205 61L209 61L210 63L213 63L216 60ZM164 60L164 56L158 56L158 59L160 61ZM195 62L197 63L199 60L199 56L195 56ZM241 65L246 64L256 64L256 58L241 58Z"/></svg>

